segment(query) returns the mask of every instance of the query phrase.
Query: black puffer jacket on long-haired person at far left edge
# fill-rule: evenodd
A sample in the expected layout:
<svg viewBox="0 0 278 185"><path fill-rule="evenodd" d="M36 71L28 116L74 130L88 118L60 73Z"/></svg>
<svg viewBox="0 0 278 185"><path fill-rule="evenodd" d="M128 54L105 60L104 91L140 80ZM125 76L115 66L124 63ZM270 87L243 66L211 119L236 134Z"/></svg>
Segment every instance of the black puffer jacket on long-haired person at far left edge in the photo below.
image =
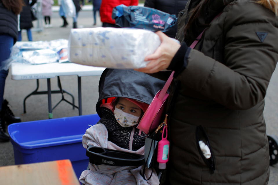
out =
<svg viewBox="0 0 278 185"><path fill-rule="evenodd" d="M0 34L7 34L17 42L17 15L7 10L0 0Z"/></svg>

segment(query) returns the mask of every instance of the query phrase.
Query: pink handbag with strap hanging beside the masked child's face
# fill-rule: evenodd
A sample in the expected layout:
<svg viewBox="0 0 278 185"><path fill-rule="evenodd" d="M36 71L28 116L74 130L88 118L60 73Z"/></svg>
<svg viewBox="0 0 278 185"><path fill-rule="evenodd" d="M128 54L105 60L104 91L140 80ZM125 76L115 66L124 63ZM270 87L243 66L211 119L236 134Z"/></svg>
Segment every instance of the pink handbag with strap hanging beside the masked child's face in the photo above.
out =
<svg viewBox="0 0 278 185"><path fill-rule="evenodd" d="M165 101L169 96L167 90L172 82L173 75L174 71L169 76L162 90L156 93L155 97L151 101L151 104L149 105L145 114L142 116L140 122L138 123L137 128L140 129L139 135L141 134L141 131L145 132L146 134L149 134L149 132L156 129L160 124L165 106Z"/></svg>

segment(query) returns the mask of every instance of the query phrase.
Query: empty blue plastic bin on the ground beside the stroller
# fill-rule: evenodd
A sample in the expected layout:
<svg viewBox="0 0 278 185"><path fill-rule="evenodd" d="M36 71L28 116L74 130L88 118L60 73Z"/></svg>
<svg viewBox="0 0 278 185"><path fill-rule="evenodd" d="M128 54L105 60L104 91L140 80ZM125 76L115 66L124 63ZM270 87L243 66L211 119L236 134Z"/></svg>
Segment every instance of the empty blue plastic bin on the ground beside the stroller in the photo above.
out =
<svg viewBox="0 0 278 185"><path fill-rule="evenodd" d="M79 178L89 162L82 136L99 119L91 114L9 125L15 164L69 159Z"/></svg>

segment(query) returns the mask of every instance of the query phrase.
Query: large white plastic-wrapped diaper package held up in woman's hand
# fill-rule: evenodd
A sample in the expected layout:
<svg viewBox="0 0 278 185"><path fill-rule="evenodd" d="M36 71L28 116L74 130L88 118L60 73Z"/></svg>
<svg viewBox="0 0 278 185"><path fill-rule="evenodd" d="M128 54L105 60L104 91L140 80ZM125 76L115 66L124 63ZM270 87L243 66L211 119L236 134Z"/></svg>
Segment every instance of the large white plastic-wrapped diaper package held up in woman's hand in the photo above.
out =
<svg viewBox="0 0 278 185"><path fill-rule="evenodd" d="M160 45L157 34L144 29L96 27L72 29L69 61L114 69L137 69Z"/></svg>

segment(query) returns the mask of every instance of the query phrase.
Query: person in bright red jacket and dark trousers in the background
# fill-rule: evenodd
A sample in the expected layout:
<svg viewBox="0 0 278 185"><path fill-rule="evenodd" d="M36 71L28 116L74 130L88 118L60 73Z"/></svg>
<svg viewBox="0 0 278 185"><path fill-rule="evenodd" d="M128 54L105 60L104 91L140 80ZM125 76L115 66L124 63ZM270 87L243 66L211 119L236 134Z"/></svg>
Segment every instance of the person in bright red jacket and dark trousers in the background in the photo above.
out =
<svg viewBox="0 0 278 185"><path fill-rule="evenodd" d="M124 4L126 6L137 6L138 0L102 0L100 5L100 20L103 27L119 27L112 20L112 11L115 6Z"/></svg>

